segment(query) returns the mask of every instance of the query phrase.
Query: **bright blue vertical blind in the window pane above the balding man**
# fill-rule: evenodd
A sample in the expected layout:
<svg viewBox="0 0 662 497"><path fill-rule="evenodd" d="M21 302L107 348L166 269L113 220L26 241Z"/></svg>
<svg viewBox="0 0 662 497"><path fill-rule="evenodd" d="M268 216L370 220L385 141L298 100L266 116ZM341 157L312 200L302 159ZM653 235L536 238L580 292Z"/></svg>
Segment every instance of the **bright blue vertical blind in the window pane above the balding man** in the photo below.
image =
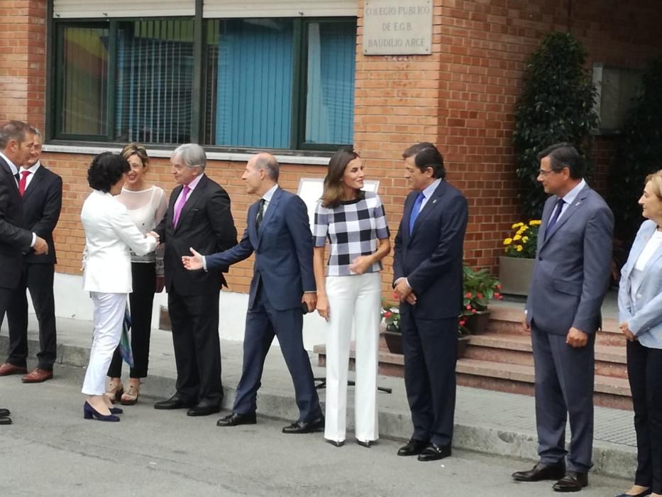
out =
<svg viewBox="0 0 662 497"><path fill-rule="evenodd" d="M231 19L214 26L218 29L214 143L289 148L292 21Z"/></svg>

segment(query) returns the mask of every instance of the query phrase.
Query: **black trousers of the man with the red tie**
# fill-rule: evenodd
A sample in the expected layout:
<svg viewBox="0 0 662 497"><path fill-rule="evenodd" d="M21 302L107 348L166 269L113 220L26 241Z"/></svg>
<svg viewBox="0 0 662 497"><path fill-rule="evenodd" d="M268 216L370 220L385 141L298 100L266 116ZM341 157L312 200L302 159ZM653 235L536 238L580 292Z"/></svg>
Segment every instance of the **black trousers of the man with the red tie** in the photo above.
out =
<svg viewBox="0 0 662 497"><path fill-rule="evenodd" d="M39 351L37 353L40 369L53 371L57 356L57 332L55 331L55 300L53 298L53 264L23 264L21 281L14 290L11 304L7 309L9 324L9 354L7 362L14 366L26 367L28 359L28 295L30 290L32 304L39 322Z"/></svg>

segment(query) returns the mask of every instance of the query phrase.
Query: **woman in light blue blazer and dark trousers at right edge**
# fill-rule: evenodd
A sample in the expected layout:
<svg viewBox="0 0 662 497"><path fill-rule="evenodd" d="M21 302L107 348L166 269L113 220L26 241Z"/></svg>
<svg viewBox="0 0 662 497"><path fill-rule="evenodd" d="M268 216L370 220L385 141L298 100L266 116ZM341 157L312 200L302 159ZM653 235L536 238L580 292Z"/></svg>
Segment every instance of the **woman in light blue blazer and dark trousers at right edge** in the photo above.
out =
<svg viewBox="0 0 662 497"><path fill-rule="evenodd" d="M637 468L619 497L662 496L662 170L646 178L641 224L621 271L618 310L627 342Z"/></svg>

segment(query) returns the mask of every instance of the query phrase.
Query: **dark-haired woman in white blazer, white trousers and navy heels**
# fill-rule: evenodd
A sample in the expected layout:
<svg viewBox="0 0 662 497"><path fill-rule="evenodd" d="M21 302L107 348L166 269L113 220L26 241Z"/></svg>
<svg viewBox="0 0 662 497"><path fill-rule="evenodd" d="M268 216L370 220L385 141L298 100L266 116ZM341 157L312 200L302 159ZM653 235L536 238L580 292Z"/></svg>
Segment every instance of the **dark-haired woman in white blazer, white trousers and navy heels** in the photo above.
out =
<svg viewBox="0 0 662 497"><path fill-rule="evenodd" d="M126 296L131 293L131 252L144 255L156 249L158 239L145 236L133 224L126 207L115 199L130 166L125 158L104 152L92 160L87 181L94 190L83 204L85 229L83 285L94 305L94 340L82 393L85 419L119 421L121 409L112 408L104 395L106 371L119 344Z"/></svg>

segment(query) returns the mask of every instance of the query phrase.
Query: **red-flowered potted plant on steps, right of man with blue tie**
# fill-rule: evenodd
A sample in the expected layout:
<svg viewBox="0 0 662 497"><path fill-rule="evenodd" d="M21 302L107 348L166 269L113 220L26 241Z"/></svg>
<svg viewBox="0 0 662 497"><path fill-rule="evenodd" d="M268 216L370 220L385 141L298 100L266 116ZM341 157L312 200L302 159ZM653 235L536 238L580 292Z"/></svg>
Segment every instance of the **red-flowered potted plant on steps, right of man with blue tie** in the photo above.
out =
<svg viewBox="0 0 662 497"><path fill-rule="evenodd" d="M470 334L485 333L490 322L487 304L492 297L501 299L501 284L489 270L475 270L464 266L463 309L460 315L460 330Z"/></svg>

